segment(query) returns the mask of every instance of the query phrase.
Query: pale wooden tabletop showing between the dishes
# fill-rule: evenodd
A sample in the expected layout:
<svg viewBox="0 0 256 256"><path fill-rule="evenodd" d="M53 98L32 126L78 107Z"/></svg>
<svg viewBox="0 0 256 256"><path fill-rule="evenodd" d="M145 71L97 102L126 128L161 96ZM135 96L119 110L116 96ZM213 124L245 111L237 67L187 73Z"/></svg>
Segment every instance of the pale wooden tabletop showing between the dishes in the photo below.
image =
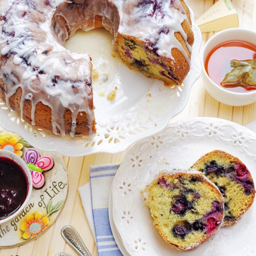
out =
<svg viewBox="0 0 256 256"><path fill-rule="evenodd" d="M187 0L189 6L198 18L214 0ZM256 0L233 0L233 4L239 15L240 27L254 29L256 31ZM213 33L203 34L203 44ZM245 107L230 107L213 99L204 89L202 80L199 79L192 88L189 102L181 114L173 120L189 116L219 117L245 125L256 120L256 103ZM67 224L73 225L80 233L88 246L92 256L97 255L93 235L81 205L78 188L89 182L89 165L121 162L126 152L111 154L94 154L85 157L65 157L68 170L69 192L67 202L57 222L37 240L26 245L1 249L0 256L54 256L60 251L71 255L77 255L61 238L61 228Z"/></svg>

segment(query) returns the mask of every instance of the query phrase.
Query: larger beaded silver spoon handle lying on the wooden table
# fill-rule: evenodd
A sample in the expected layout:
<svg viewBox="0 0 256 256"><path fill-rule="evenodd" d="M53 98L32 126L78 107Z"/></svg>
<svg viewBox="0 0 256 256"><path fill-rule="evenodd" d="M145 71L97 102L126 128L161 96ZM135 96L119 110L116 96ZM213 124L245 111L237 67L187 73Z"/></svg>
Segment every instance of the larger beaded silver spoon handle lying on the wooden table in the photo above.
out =
<svg viewBox="0 0 256 256"><path fill-rule="evenodd" d="M74 227L67 225L61 229L61 236L81 256L91 256Z"/></svg>

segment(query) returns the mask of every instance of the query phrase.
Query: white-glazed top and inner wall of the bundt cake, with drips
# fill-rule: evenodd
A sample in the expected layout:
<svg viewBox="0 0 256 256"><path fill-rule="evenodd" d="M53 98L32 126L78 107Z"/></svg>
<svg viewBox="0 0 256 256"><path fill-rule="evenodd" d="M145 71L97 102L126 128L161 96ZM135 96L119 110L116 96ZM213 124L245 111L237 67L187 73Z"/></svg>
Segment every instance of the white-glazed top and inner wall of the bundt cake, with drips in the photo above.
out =
<svg viewBox="0 0 256 256"><path fill-rule="evenodd" d="M1 0L0 74L6 102L22 88L21 117L25 100L32 102L31 120L38 102L52 109L54 134L65 134L64 112L72 112L70 135L76 117L86 112L89 132L94 121L91 60L88 54L70 53L65 41L81 28L95 27L95 16L115 35L138 37L156 53L173 61L177 48L190 64L189 56L175 32L180 32L191 51L182 22L188 20L179 0ZM164 30L165 33L161 31Z"/></svg>

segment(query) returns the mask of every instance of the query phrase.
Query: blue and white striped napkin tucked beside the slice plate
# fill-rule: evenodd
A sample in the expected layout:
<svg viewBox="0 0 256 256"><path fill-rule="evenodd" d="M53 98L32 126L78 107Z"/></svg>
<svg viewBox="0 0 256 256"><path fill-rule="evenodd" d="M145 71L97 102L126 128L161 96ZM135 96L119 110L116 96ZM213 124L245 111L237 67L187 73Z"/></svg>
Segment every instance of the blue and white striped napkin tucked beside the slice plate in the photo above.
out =
<svg viewBox="0 0 256 256"><path fill-rule="evenodd" d="M119 164L90 166L90 183L79 190L99 256L122 256L108 219L108 197Z"/></svg>

